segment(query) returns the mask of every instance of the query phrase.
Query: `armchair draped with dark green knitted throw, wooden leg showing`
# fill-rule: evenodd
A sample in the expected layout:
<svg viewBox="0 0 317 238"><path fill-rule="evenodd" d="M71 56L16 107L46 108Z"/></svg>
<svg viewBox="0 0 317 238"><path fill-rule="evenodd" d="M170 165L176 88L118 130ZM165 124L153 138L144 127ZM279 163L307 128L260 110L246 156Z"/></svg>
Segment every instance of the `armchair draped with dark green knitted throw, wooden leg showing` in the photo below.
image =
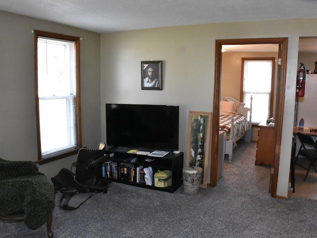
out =
<svg viewBox="0 0 317 238"><path fill-rule="evenodd" d="M52 212L55 206L54 185L51 179L40 173L31 161L6 161L0 158L0 217L23 209L24 223L36 230L47 223L51 230Z"/></svg>

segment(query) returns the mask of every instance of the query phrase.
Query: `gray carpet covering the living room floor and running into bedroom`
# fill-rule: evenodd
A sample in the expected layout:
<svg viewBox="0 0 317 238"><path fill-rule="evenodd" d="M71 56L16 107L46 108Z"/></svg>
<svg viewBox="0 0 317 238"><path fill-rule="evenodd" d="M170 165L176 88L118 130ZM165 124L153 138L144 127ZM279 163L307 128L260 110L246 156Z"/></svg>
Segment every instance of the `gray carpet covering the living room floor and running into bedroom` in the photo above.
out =
<svg viewBox="0 0 317 238"><path fill-rule="evenodd" d="M214 188L188 195L112 182L79 209L64 211L56 194L55 238L308 238L317 237L317 201L268 193L269 168L255 166L255 143L239 143ZM72 198L75 206L87 197ZM1 238L45 238L46 226L0 223Z"/></svg>

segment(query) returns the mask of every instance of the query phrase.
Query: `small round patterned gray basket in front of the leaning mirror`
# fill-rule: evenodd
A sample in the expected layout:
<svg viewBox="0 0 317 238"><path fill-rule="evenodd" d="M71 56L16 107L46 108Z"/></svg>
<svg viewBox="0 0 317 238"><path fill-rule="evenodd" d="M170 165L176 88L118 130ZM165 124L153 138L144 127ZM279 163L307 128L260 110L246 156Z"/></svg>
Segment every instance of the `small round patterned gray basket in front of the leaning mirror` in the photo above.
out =
<svg viewBox="0 0 317 238"><path fill-rule="evenodd" d="M187 166L183 168L183 187L184 193L195 194L198 193L203 169L195 166Z"/></svg>

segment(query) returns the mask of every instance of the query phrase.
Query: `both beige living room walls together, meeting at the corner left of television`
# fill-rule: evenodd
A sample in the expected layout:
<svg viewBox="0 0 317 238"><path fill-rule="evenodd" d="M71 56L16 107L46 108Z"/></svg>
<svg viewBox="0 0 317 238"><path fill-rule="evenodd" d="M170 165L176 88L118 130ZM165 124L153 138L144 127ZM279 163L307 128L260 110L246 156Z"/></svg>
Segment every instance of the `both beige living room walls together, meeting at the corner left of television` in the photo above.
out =
<svg viewBox="0 0 317 238"><path fill-rule="evenodd" d="M32 29L82 37L83 144L105 135L106 103L180 105L179 149L186 151L189 111L212 111L216 39L288 37L277 195L287 196L300 36L317 36L317 19L202 24L102 34L0 11L0 157L35 160ZM141 90L141 60L163 60L163 90ZM286 59L284 59L286 60ZM101 130L100 130L101 128ZM186 154L185 154L186 158ZM74 157L40 166L48 176Z"/></svg>

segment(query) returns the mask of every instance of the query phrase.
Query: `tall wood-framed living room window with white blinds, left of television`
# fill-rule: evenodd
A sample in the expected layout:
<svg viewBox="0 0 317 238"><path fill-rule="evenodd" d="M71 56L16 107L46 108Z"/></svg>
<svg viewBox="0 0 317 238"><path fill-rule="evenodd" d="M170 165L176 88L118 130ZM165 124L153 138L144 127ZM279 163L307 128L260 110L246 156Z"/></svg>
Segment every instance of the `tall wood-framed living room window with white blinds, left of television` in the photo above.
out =
<svg viewBox="0 0 317 238"><path fill-rule="evenodd" d="M81 147L79 38L34 31L38 162Z"/></svg>

